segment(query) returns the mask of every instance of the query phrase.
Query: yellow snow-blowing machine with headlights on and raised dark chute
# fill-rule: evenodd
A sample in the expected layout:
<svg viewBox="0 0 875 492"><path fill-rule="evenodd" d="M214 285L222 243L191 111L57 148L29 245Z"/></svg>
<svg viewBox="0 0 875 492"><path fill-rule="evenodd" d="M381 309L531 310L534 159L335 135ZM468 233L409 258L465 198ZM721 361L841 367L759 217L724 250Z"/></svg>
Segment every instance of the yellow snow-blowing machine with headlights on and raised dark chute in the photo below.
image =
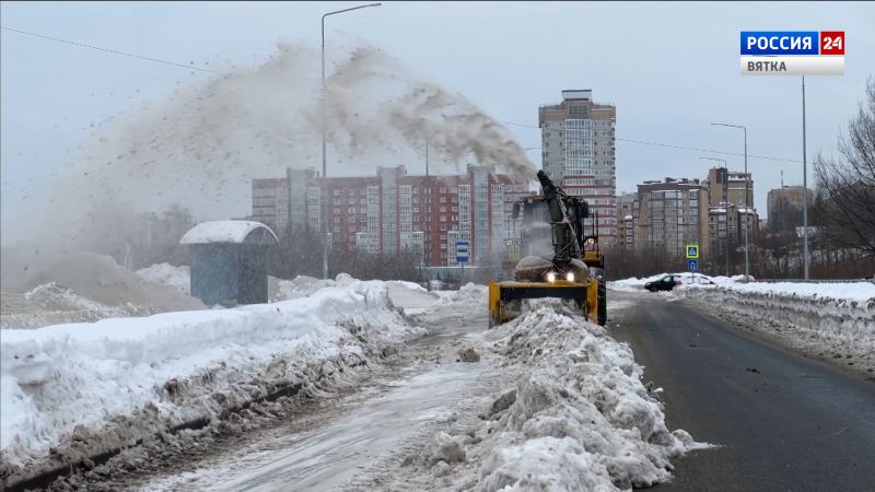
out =
<svg viewBox="0 0 875 492"><path fill-rule="evenodd" d="M573 302L593 323L607 321L605 258L598 248L598 216L591 235L584 234L588 204L553 185L538 172L541 195L514 203L514 220L523 221L513 280L489 282L489 326L522 314L524 300L558 297ZM551 254L550 254L551 251Z"/></svg>

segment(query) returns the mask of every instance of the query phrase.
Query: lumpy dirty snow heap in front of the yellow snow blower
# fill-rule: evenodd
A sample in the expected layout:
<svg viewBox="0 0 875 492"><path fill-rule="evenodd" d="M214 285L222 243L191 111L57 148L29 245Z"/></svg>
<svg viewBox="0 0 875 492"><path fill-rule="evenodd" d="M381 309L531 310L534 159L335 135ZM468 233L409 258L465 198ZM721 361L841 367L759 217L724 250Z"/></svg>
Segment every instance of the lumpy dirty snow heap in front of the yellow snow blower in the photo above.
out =
<svg viewBox="0 0 875 492"><path fill-rule="evenodd" d="M453 489L615 490L666 482L672 458L707 447L668 431L627 344L562 309L540 301L495 329L492 350L525 367L522 378L486 409L486 422L438 435L415 461Z"/></svg>

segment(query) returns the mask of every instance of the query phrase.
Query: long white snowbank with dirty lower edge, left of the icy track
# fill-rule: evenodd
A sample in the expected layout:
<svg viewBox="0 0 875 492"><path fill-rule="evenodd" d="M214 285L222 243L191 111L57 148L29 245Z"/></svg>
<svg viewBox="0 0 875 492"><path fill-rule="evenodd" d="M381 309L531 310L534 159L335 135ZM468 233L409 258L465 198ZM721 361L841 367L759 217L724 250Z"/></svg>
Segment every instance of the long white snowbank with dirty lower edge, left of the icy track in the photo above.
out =
<svg viewBox="0 0 875 492"><path fill-rule="evenodd" d="M421 332L384 282L349 278L273 304L2 330L4 472L14 482L277 388L307 390Z"/></svg>

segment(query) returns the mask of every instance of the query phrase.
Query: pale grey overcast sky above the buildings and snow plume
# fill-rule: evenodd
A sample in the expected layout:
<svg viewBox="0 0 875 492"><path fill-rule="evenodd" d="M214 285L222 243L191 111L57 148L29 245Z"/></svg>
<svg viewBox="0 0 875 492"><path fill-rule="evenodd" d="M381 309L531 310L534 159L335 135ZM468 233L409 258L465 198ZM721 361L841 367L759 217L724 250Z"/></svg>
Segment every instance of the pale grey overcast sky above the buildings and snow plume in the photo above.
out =
<svg viewBox="0 0 875 492"><path fill-rule="evenodd" d="M2 3L2 26L145 57L257 63L278 40L317 47L322 13L359 3ZM875 72L873 3L409 3L384 2L328 19L329 45L366 40L419 78L467 96L498 120L537 126L540 104L563 89L592 89L617 105L619 139L742 152L751 159L756 206L768 189L802 181L800 78L742 77L738 32L847 32L845 74L809 78L808 155L836 142ZM22 194L73 165L90 125L161 99L210 74L2 31L2 219ZM539 130L509 127L525 148ZM643 179L699 177L721 155L617 142L618 191ZM540 151L529 151L540 164ZM742 168L738 156L726 156ZM419 173L419 163L408 163ZM810 179L810 174L809 174ZM28 185L30 183L30 185ZM37 187L38 188L38 187ZM32 191L27 191L32 192ZM248 213L244 203L242 214ZM9 237L4 237L4 241Z"/></svg>

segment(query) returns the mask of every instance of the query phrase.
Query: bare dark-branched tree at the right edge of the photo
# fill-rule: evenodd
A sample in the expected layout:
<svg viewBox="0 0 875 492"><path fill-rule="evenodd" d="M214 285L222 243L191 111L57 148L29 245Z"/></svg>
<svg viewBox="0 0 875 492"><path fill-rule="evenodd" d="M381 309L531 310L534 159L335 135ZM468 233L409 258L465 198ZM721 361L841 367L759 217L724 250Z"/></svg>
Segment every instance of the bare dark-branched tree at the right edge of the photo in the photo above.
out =
<svg viewBox="0 0 875 492"><path fill-rule="evenodd" d="M826 192L825 234L837 245L875 256L875 78L839 139L842 159L818 155L815 175Z"/></svg>

